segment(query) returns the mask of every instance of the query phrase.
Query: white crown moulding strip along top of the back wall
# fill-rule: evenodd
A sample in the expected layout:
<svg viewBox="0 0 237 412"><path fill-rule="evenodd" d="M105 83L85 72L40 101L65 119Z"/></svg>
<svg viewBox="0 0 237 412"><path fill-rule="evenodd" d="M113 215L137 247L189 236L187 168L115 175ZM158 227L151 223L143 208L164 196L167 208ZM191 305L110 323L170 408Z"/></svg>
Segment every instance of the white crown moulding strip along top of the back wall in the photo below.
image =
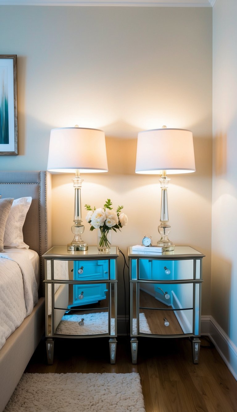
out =
<svg viewBox="0 0 237 412"><path fill-rule="evenodd" d="M213 7L216 0L0 0L0 5Z"/></svg>

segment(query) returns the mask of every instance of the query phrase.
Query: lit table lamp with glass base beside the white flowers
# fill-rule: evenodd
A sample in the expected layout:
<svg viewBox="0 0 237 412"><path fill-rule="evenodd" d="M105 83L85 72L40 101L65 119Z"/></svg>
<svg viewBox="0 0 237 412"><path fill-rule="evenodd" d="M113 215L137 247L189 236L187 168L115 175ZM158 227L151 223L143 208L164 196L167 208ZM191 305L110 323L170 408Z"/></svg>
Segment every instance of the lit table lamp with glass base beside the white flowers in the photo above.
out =
<svg viewBox="0 0 237 412"><path fill-rule="evenodd" d="M80 173L107 172L105 133L98 129L86 129L78 126L52 129L49 141L47 170L51 172L75 173L73 187L74 239L67 245L67 250L88 250L88 245L81 240L84 225L81 224L81 179Z"/></svg>

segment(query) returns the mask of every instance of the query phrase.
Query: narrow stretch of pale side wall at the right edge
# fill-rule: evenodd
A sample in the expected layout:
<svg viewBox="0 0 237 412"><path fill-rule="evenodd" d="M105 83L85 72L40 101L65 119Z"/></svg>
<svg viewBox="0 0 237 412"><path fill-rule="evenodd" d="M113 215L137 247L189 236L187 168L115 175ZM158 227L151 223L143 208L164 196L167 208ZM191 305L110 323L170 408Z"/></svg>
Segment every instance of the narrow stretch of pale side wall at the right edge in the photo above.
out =
<svg viewBox="0 0 237 412"><path fill-rule="evenodd" d="M236 16L236 0L216 1L213 9L211 313L237 346Z"/></svg>

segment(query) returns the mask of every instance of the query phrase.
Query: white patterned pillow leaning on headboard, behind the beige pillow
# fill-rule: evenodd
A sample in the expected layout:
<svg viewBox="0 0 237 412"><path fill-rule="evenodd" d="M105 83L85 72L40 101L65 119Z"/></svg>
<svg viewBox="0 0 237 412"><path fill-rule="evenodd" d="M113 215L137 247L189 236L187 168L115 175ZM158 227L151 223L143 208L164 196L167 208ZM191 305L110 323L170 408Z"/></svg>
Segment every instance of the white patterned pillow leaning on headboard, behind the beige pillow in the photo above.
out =
<svg viewBox="0 0 237 412"><path fill-rule="evenodd" d="M5 227L3 239L5 248L29 248L29 246L24 243L22 228L31 201L32 197L20 197L13 201Z"/></svg>

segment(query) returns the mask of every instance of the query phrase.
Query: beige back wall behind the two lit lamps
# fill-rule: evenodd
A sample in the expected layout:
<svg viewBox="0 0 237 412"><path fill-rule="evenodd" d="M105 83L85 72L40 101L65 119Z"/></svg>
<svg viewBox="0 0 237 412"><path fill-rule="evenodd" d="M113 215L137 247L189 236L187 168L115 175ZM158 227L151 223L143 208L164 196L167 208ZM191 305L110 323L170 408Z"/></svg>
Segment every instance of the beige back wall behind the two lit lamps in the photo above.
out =
<svg viewBox="0 0 237 412"><path fill-rule="evenodd" d="M113 234L123 252L147 232L158 239L160 184L135 174L137 132L193 131L196 173L172 177L168 189L170 239L206 254L210 314L212 9L1 6L0 53L18 56L19 97L19 156L1 156L0 170L46 169L54 127L103 129L109 173L84 175L82 204L124 205L129 224ZM53 244L72 240L72 177L53 176ZM84 240L95 244L88 225ZM122 268L120 257L119 314Z"/></svg>

